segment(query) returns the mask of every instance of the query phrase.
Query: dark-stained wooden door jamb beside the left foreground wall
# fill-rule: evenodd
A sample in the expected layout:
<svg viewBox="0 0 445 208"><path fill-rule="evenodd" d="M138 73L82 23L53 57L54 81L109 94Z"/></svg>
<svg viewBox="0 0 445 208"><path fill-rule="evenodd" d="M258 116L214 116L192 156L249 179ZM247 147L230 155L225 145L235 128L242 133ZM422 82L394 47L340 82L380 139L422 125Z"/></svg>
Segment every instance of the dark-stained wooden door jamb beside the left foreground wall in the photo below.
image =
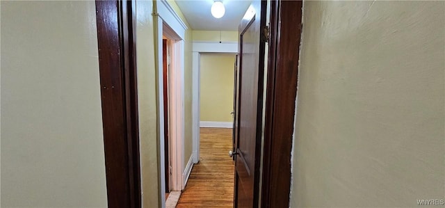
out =
<svg viewBox="0 0 445 208"><path fill-rule="evenodd" d="M96 1L108 207L140 207L134 3Z"/></svg>

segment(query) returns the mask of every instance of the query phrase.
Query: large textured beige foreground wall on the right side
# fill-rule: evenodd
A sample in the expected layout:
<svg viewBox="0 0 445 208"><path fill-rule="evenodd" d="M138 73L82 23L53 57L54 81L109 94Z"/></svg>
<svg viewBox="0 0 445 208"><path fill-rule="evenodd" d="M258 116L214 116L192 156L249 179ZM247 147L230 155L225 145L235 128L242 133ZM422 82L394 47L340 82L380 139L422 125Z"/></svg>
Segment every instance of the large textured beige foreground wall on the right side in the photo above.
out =
<svg viewBox="0 0 445 208"><path fill-rule="evenodd" d="M291 207L444 199L444 1L305 1Z"/></svg>

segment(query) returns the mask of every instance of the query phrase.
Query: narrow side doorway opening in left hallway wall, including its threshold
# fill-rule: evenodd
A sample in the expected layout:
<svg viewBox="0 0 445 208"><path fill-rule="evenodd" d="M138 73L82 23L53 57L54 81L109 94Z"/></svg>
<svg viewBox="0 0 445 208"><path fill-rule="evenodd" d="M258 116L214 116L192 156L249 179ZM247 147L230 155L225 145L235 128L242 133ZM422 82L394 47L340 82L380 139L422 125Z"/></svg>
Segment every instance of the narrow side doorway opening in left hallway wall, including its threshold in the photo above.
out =
<svg viewBox="0 0 445 208"><path fill-rule="evenodd" d="M164 24L163 28L166 25ZM162 72L163 77L163 185L165 187L165 205L171 205L184 189L182 170L184 169L184 141L181 140L181 129L184 122L179 111L181 101L178 99L178 77L181 76L179 67L178 44L181 40L175 40L172 33L164 33L162 36ZM176 52L176 54L173 54ZM179 106L179 108L178 108ZM179 115L179 116L178 116Z"/></svg>

